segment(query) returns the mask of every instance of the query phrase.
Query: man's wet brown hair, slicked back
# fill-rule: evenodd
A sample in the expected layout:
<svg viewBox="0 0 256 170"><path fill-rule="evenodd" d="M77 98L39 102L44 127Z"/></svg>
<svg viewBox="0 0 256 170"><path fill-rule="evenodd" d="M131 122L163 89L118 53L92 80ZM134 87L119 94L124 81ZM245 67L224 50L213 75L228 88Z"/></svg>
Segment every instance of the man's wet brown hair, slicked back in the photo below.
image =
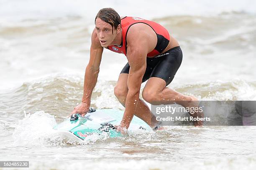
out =
<svg viewBox="0 0 256 170"><path fill-rule="evenodd" d="M112 26L112 28L114 28L115 30L117 29L118 25L121 24L120 16L112 8L102 8L101 10L99 10L99 12L95 17L95 23L97 18L100 18L106 23L109 23ZM113 29L112 29L112 34L113 34Z"/></svg>

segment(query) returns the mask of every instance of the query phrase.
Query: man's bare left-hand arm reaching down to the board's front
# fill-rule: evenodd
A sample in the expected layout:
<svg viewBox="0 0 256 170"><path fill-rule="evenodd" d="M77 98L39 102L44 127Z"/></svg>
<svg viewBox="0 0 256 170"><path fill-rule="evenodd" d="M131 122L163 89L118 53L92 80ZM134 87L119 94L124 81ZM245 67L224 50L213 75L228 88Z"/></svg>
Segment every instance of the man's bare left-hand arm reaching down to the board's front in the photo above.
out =
<svg viewBox="0 0 256 170"><path fill-rule="evenodd" d="M74 108L74 113L79 113L84 116L88 111L91 103L92 91L97 83L97 77L100 72L100 62L102 58L103 47L97 37L95 30L92 32L92 44L90 48L90 60L85 69L84 74L84 93L82 103Z"/></svg>

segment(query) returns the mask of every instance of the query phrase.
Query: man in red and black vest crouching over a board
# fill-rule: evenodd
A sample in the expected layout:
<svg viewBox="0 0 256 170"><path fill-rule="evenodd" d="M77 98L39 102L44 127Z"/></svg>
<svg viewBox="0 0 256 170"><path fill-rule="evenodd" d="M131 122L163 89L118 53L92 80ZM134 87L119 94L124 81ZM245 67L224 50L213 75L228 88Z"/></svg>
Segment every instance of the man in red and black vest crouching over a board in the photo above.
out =
<svg viewBox="0 0 256 170"><path fill-rule="evenodd" d="M148 80L142 96L150 104L176 102L183 107L191 107L192 101L197 100L166 87L182 63L182 50L177 40L158 23L137 17L121 18L112 8L103 8L98 12L91 38L90 61L84 76L82 103L74 108L72 114L84 116L88 112L92 90L100 71L103 48L107 48L123 53L128 59L114 89L118 101L125 107L118 130L125 132L134 114L156 129L159 122L139 99L142 82ZM201 124L195 122L195 125Z"/></svg>

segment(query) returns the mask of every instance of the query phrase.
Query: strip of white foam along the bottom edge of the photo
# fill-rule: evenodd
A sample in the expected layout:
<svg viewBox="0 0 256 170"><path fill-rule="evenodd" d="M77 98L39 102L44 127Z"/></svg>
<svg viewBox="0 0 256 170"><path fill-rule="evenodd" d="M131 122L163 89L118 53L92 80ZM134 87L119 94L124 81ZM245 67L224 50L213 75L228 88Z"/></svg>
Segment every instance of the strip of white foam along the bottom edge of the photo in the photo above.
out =
<svg viewBox="0 0 256 170"><path fill-rule="evenodd" d="M174 152L177 152L176 150ZM216 153L215 153L216 154ZM165 160L155 159L133 159L131 157L136 154L122 154L115 161L110 160L100 160L100 161L87 161L84 163L83 161L77 162L64 162L61 164L56 164L56 162L48 162L47 165L40 162L32 162L29 166L32 169L38 169L38 167L43 169L48 169L51 167L53 169L73 169L74 167L77 170L84 169L104 169L104 170L150 170L150 169L159 169L159 170L170 170L170 167L175 170L216 170L216 169L232 169L232 170L254 170L255 169L255 154L253 155L245 155L242 158L238 158L235 155L227 155L225 157L202 157L198 154L195 156L191 156L189 160L181 160L175 161L172 157L165 157ZM218 155L218 154L217 154ZM116 155L111 155L111 157L115 157ZM121 157L122 156L122 157ZM140 157L140 155L136 155ZM129 160L123 160L125 158L130 158Z"/></svg>

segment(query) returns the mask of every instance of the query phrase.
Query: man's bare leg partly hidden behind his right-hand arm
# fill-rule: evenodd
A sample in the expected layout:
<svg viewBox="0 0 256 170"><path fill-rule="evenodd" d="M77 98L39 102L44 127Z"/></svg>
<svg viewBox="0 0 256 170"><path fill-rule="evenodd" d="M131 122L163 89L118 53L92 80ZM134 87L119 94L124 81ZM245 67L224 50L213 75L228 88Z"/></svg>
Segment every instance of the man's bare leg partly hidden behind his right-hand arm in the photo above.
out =
<svg viewBox="0 0 256 170"><path fill-rule="evenodd" d="M118 98L118 101L123 105L123 107L125 107L126 96L128 93L127 79L128 74L121 73L114 89L114 94ZM156 117L151 113L148 105L141 99L138 100L138 105L134 114L151 127L155 127L158 124Z"/></svg>

